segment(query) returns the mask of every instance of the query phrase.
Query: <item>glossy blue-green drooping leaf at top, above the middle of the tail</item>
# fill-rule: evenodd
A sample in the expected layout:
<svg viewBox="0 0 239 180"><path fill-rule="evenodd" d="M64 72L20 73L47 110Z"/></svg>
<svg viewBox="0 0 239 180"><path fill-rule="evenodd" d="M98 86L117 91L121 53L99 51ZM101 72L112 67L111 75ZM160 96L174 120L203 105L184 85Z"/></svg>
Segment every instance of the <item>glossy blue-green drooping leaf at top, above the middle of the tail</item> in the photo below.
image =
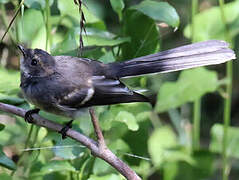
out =
<svg viewBox="0 0 239 180"><path fill-rule="evenodd" d="M170 26L179 26L179 16L174 7L167 2L142 1L140 4L131 7L156 21L162 21Z"/></svg>

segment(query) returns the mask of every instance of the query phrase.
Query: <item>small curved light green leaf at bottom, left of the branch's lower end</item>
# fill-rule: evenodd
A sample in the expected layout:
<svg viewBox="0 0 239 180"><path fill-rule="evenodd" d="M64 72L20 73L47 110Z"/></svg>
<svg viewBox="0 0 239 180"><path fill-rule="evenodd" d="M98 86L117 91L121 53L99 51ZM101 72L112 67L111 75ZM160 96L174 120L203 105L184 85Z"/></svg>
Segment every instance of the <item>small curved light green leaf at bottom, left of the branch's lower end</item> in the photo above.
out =
<svg viewBox="0 0 239 180"><path fill-rule="evenodd" d="M48 174L52 172L66 172L66 171L72 171L75 172L76 169L67 161L50 161L49 163L46 163L45 166L43 166L40 170L40 173Z"/></svg>

